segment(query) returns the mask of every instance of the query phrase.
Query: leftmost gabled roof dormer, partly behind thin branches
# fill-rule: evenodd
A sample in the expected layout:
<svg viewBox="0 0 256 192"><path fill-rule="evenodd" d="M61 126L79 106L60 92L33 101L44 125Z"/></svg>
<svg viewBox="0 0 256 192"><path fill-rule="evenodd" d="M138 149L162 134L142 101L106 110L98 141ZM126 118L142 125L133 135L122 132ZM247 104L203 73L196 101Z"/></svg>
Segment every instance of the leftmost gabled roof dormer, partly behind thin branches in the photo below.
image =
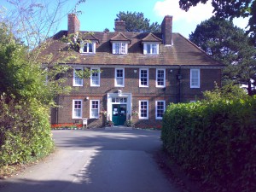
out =
<svg viewBox="0 0 256 192"><path fill-rule="evenodd" d="M79 52L84 54L95 54L96 44L99 44L99 39L96 38L92 33L82 35L80 40Z"/></svg>

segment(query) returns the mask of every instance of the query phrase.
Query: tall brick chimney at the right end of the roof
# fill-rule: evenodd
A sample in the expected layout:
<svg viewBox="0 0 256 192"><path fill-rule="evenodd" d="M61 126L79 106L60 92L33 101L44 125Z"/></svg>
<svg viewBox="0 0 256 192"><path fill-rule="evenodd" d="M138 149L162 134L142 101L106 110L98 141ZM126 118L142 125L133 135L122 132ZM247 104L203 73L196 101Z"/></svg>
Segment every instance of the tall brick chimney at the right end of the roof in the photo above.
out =
<svg viewBox="0 0 256 192"><path fill-rule="evenodd" d="M161 30L163 34L163 43L172 44L172 16L166 15L162 25Z"/></svg>

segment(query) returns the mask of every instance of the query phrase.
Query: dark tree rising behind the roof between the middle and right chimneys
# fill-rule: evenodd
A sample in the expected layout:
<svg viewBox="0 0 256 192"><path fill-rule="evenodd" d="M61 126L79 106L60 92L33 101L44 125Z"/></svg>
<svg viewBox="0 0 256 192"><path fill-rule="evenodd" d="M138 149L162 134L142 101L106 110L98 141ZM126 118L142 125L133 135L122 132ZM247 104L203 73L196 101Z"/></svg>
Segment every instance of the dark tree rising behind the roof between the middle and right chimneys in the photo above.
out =
<svg viewBox="0 0 256 192"><path fill-rule="evenodd" d="M124 20L127 32L160 32L160 25L157 22L149 24L150 20L144 18L143 13L120 11L115 20Z"/></svg>

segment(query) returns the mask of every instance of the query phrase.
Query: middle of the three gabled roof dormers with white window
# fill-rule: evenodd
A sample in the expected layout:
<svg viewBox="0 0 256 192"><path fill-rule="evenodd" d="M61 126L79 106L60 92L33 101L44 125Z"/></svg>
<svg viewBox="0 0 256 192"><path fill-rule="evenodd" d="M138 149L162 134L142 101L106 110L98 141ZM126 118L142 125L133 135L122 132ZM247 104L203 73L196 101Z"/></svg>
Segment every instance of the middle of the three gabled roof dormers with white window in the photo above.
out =
<svg viewBox="0 0 256 192"><path fill-rule="evenodd" d="M122 32L119 32L113 38L110 38L113 54L128 54L128 45L131 44L131 39L126 38Z"/></svg>

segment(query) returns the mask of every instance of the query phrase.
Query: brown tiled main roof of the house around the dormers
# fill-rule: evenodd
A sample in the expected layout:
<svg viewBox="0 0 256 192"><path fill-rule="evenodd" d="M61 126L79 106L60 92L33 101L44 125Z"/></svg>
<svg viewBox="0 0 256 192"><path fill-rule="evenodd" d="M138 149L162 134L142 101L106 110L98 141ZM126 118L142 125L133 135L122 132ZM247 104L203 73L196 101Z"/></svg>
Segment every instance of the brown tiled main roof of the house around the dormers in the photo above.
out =
<svg viewBox="0 0 256 192"><path fill-rule="evenodd" d="M123 37L131 39L127 55L113 55L111 39ZM143 39L161 39L162 33L139 33L139 32L94 32L93 36L99 40L96 44L96 54L80 54L79 50L72 49L60 40L67 35L67 31L61 31L49 39L49 46L44 49L42 55L53 53L59 58L59 51L64 55L75 55L76 59L70 59L68 63L84 65L125 65L125 66L210 66L224 67L218 61L214 61L204 51L192 44L187 38L179 33L172 33L173 45L160 44L159 55L143 55ZM60 55L60 53L59 53ZM67 58L66 56L66 58ZM42 59L42 62L45 62Z"/></svg>

